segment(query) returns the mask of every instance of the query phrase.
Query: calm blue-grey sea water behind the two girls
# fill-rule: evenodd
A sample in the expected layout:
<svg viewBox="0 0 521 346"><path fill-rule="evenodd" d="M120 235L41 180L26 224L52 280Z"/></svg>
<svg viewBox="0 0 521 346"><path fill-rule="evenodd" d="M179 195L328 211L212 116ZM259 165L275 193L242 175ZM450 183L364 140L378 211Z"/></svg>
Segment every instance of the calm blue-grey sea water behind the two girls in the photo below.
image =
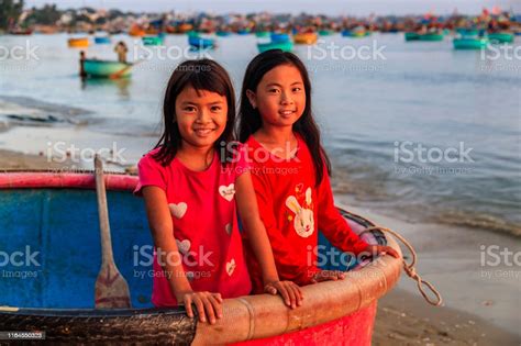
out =
<svg viewBox="0 0 521 346"><path fill-rule="evenodd" d="M335 192L397 217L521 235L520 38L486 53L454 51L450 36L406 43L401 34L334 35L314 47L297 46L312 79ZM185 36L167 36L164 47L151 48L115 36L128 43L131 60L146 59L129 80L81 82L79 51L66 40L0 36L0 99L52 103L45 112L60 116L60 107L74 107L65 126L78 131L80 123L130 139L157 135L171 70L198 56L187 51ZM239 89L256 38L218 41L207 55L226 67ZM87 55L115 56L112 45L92 45ZM0 114L4 122L7 115Z"/></svg>

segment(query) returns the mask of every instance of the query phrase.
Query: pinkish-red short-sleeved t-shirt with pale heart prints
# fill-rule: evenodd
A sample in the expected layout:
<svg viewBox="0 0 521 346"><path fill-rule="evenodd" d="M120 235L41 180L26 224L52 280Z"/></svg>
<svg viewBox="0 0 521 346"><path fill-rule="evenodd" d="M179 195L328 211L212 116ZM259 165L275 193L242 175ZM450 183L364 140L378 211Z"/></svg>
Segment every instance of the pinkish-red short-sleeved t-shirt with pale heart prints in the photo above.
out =
<svg viewBox="0 0 521 346"><path fill-rule="evenodd" d="M177 158L163 167L152 157L157 150L140 160L140 182L134 192L141 194L146 186L166 192L173 236L191 288L219 292L223 298L250 294L252 283L244 261L234 196L237 177L250 168L245 155L223 167L215 152L207 170L192 171ZM156 306L175 306L176 298L156 252L152 302Z"/></svg>

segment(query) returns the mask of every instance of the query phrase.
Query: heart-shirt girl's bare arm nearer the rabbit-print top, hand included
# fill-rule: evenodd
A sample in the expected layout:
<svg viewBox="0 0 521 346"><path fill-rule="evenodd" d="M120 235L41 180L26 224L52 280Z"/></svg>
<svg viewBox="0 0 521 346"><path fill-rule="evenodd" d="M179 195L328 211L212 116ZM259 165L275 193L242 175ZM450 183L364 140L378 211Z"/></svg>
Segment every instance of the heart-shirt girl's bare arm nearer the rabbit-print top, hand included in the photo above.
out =
<svg viewBox="0 0 521 346"><path fill-rule="evenodd" d="M257 199L250 172L243 172L235 181L235 198L239 214L248 233L250 246L257 257L263 271L263 282L267 293L282 295L287 305L296 308L302 303L302 293L292 281L279 281L275 259L266 228L258 214Z"/></svg>

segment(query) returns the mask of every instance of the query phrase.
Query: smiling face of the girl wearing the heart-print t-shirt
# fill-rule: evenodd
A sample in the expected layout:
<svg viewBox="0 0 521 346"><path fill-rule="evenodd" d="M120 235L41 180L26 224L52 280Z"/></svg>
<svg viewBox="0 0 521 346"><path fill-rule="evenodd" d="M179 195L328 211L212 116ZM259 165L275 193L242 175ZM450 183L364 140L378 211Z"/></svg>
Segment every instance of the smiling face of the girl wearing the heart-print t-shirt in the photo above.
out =
<svg viewBox="0 0 521 346"><path fill-rule="evenodd" d="M210 148L226 126L226 97L186 87L176 98L176 121L182 145Z"/></svg>

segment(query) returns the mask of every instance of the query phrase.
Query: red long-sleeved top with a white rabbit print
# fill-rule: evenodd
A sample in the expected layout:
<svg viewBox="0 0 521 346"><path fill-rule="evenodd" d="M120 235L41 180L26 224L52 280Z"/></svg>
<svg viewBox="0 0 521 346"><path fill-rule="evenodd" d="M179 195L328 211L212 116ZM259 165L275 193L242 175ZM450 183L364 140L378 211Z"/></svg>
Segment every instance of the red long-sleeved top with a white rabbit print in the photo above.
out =
<svg viewBox="0 0 521 346"><path fill-rule="evenodd" d="M358 254L367 243L348 226L334 207L326 168L315 187L311 154L299 137L293 158L284 159L265 149L253 136L245 143L260 219L271 243L280 280L308 284L317 267L318 230L343 252ZM243 232L243 238L247 233ZM263 292L262 271L247 239L246 261L255 293Z"/></svg>

